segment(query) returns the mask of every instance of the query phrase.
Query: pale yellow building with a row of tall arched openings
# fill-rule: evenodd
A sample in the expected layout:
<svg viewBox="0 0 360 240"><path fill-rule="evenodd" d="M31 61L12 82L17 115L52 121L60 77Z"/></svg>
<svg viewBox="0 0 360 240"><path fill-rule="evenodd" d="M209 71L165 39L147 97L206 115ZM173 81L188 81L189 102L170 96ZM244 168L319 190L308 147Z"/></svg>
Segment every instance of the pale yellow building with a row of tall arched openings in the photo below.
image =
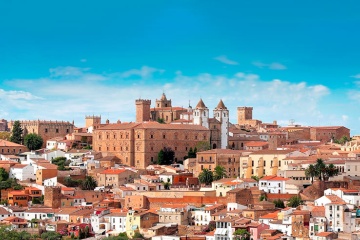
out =
<svg viewBox="0 0 360 240"><path fill-rule="evenodd" d="M287 166L282 162L291 150L262 150L240 157L240 177L277 175L279 170Z"/></svg>

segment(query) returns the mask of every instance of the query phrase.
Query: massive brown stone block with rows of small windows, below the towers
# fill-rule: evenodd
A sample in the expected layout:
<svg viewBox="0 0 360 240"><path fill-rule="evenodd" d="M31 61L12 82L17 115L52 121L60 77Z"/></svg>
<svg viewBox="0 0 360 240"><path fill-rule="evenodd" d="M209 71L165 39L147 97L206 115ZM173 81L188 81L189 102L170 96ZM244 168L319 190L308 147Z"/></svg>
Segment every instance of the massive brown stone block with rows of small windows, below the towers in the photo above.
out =
<svg viewBox="0 0 360 240"><path fill-rule="evenodd" d="M116 123L94 131L93 149L112 153L123 164L145 169L157 161L164 147L175 152L176 161L182 160L197 143L209 141L209 129L198 125Z"/></svg>

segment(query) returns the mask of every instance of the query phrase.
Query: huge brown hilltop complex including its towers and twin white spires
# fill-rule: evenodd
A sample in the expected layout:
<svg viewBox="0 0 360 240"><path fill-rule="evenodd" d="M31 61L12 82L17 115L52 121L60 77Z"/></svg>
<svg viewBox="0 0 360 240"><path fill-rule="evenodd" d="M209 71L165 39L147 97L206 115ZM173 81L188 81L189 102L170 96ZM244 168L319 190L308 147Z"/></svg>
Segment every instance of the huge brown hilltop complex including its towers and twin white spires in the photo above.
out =
<svg viewBox="0 0 360 240"><path fill-rule="evenodd" d="M156 100L137 99L136 122L106 124L94 129L93 149L109 152L119 157L122 163L144 169L157 161L164 147L175 152L175 160L187 156L190 148L200 142L210 148L227 148L229 132L229 110L222 100L213 110L200 99L195 109L172 107L165 94ZM191 120L185 120L185 119ZM165 123L158 123L163 119Z"/></svg>

